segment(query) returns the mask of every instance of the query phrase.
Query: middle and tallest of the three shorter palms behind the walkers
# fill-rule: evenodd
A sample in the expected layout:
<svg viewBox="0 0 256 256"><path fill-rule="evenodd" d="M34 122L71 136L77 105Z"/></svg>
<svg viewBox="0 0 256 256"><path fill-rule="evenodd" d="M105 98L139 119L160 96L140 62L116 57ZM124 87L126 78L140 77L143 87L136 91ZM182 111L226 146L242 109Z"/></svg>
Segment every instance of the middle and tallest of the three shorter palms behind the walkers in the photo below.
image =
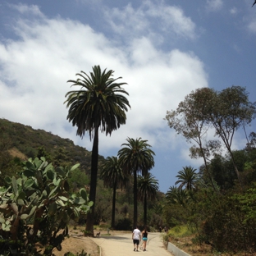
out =
<svg viewBox="0 0 256 256"><path fill-rule="evenodd" d="M138 204L137 204L137 174L143 176L148 173L154 166L153 155L155 154L151 146L147 144L148 140L131 139L128 137L127 143L121 144L124 146L118 151L118 156L121 166L125 171L134 176L134 226L137 226L138 220Z"/></svg>

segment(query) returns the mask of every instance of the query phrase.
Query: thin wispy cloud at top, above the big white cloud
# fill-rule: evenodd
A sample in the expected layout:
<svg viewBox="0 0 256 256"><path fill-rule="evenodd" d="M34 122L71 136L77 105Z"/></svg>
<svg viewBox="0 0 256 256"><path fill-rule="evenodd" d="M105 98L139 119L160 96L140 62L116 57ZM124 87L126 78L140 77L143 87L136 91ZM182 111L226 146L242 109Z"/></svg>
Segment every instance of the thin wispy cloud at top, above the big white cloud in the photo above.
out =
<svg viewBox="0 0 256 256"><path fill-rule="evenodd" d="M164 2L144 1L137 9L130 3L123 9L106 8L105 16L112 30L125 38L147 36L155 43L161 43L170 34L196 38L196 26L190 17L180 7L167 6Z"/></svg>

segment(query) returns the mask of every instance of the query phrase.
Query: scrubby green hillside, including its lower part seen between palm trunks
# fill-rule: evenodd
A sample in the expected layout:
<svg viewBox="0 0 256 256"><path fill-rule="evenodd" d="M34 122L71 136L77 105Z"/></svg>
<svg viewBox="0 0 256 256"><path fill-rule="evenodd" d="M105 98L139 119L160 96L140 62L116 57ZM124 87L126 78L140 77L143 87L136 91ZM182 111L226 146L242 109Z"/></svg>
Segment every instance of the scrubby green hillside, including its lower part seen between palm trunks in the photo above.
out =
<svg viewBox="0 0 256 256"><path fill-rule="evenodd" d="M73 166L80 163L80 168L71 172L69 184L71 190L85 187L89 191L91 152L76 146L71 139L62 139L45 130L34 130L31 126L0 119L0 185L5 185L5 176L18 176L21 171L21 162L28 158L45 157L55 167ZM95 223L110 223L112 213L112 189L103 185L100 178L101 168L105 158L98 157L98 185L95 208ZM148 216L151 226L162 225L161 214L155 212L155 206L159 207L159 199L164 194L158 192L158 203L149 200ZM116 222L117 228L127 229L132 222L132 185L126 185L126 189L117 190ZM142 202L139 202L139 213L143 212ZM158 208L157 207L157 208ZM139 222L143 222L143 214L139 215ZM84 223L81 219L80 223Z"/></svg>

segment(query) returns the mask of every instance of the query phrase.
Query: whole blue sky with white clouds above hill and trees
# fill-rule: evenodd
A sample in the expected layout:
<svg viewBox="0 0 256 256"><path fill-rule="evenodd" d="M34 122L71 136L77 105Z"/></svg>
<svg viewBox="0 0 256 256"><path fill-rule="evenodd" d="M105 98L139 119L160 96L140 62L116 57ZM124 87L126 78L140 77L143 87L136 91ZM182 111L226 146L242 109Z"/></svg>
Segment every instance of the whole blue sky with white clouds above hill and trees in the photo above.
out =
<svg viewBox="0 0 256 256"><path fill-rule="evenodd" d="M128 137L148 140L151 170L166 193L185 166L199 169L164 120L194 89L246 87L256 101L256 5L253 0L26 0L0 2L0 118L92 141L66 120L67 80L95 65L113 70L130 109L126 125L99 136L99 154L117 156ZM78 89L78 88L77 88ZM255 131L255 121L246 128ZM245 148L238 130L233 148Z"/></svg>

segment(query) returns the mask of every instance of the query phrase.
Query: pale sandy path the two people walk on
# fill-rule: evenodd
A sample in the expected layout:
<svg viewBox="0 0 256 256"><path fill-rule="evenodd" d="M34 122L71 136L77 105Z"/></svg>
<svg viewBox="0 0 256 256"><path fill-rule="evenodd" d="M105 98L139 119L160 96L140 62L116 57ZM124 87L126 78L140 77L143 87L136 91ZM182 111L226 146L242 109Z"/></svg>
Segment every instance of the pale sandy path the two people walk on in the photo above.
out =
<svg viewBox="0 0 256 256"><path fill-rule="evenodd" d="M99 236L92 240L100 246L101 256L171 256L162 244L162 235L160 233L149 233L147 250L144 252L134 252L134 246L131 240L131 233L115 236Z"/></svg>

